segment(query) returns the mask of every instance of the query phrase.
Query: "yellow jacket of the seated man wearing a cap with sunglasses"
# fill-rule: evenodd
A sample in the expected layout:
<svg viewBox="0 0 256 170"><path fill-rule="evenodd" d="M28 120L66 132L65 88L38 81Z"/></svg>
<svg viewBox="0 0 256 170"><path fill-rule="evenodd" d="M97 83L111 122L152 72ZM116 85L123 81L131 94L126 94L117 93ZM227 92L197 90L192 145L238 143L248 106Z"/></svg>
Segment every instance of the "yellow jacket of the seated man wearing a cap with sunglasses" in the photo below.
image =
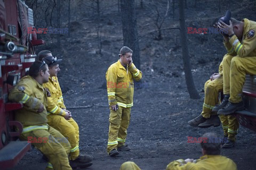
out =
<svg viewBox="0 0 256 170"><path fill-rule="evenodd" d="M44 88L47 88L51 93L51 96L47 98L47 114L56 114L65 116L66 113L62 108L65 108L65 104L62 98L62 92L57 77L49 77L49 82L43 84Z"/></svg>

